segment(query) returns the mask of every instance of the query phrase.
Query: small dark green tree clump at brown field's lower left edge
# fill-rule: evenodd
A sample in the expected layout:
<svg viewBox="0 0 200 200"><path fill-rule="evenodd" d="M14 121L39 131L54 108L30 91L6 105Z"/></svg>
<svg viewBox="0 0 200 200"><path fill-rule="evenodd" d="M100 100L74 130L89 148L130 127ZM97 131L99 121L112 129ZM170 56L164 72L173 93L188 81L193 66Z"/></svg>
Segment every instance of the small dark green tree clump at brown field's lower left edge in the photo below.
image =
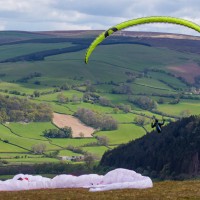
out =
<svg viewBox="0 0 200 200"><path fill-rule="evenodd" d="M72 138L72 128L66 126L60 129L48 129L43 131L43 134L48 138Z"/></svg>

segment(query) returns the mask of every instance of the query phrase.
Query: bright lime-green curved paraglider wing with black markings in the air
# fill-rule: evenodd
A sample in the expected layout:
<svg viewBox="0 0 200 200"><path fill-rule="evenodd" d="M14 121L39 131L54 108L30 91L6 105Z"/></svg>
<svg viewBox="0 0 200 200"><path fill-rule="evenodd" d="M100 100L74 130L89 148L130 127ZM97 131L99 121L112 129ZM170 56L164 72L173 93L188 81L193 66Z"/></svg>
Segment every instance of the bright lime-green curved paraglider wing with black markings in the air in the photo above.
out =
<svg viewBox="0 0 200 200"><path fill-rule="evenodd" d="M139 24L148 24L148 23L170 23L170 24L178 24L182 26L186 26L200 33L200 26L191 21L175 18L175 17L162 17L162 16L154 16L154 17L143 17L138 19L133 19L129 21L125 21L123 23L117 24L114 27L109 28L107 31L101 33L89 46L87 52L85 54L85 63L88 63L89 57L91 53L94 51L96 46L100 44L106 37L112 35L114 32L131 27Z"/></svg>

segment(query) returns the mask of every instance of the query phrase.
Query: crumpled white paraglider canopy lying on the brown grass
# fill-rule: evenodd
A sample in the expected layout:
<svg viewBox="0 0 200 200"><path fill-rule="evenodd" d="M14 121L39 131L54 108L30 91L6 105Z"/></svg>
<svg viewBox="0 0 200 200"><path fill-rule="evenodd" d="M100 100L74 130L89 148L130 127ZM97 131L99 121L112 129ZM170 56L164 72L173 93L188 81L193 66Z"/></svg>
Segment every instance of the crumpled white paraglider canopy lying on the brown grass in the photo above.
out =
<svg viewBox="0 0 200 200"><path fill-rule="evenodd" d="M33 190L48 188L88 188L91 192L153 187L152 180L132 170L115 169L107 174L86 174L81 176L57 175L46 178L39 175L18 174L12 179L0 181L0 191Z"/></svg>

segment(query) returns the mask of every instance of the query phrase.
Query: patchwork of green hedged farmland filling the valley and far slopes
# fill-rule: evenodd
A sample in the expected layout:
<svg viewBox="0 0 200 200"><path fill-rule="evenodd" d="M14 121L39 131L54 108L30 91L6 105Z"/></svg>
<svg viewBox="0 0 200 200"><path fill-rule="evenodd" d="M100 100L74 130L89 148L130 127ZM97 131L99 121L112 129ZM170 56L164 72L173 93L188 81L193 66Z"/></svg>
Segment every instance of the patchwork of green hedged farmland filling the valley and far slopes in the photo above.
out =
<svg viewBox="0 0 200 200"><path fill-rule="evenodd" d="M54 113L70 117L79 108L106 114L118 122L118 129L95 130L91 138L84 134L81 138L76 135L74 138L50 139L44 137L43 132L59 129L53 120L2 123L0 158L7 161L7 165L59 162L57 157L48 157L56 151L57 156L80 155L67 149L68 146L79 147L84 152L96 155L99 160L109 148L151 131L152 116L159 119L164 116L168 121L173 121L182 117L184 111L190 115L200 113L199 94L191 92L191 88L198 88L195 78L199 74L189 70L193 66L198 72L198 52L188 52L184 43L182 51L179 51L174 48L172 41L169 47L170 42L164 45L161 39L160 45L163 46L160 47L156 39L126 37L124 43L123 37L114 36L110 43L108 41L100 45L89 64L85 65L85 50L96 32L87 34L64 38L57 35L53 38L55 35L48 33L28 35L1 32L7 43L0 46L0 94L27 98L35 103L43 102L49 104ZM11 43L16 39L17 42ZM144 40L145 45L138 43L140 40ZM193 41L189 42L193 44ZM128 88L126 92L125 87ZM84 101L86 93L95 94L109 103L104 105L101 102ZM67 99L65 102L59 99L61 95ZM130 101L141 96L156 101L156 109L144 110ZM178 103L173 104L177 99ZM134 121L138 116L144 117L143 127ZM108 144L103 146L98 144L98 137L102 136L108 139ZM45 145L43 155L33 153L32 148L37 144Z"/></svg>

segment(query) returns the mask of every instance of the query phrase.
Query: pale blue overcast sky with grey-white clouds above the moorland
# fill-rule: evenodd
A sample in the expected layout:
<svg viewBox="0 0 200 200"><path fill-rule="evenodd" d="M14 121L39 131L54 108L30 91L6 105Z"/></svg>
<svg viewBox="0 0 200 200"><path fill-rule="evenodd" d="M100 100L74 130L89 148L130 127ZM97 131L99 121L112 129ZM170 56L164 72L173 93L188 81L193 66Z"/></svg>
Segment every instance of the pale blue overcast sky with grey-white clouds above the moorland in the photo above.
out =
<svg viewBox="0 0 200 200"><path fill-rule="evenodd" d="M0 30L105 30L126 20L157 15L200 25L200 0L0 0ZM200 35L160 23L128 30Z"/></svg>

